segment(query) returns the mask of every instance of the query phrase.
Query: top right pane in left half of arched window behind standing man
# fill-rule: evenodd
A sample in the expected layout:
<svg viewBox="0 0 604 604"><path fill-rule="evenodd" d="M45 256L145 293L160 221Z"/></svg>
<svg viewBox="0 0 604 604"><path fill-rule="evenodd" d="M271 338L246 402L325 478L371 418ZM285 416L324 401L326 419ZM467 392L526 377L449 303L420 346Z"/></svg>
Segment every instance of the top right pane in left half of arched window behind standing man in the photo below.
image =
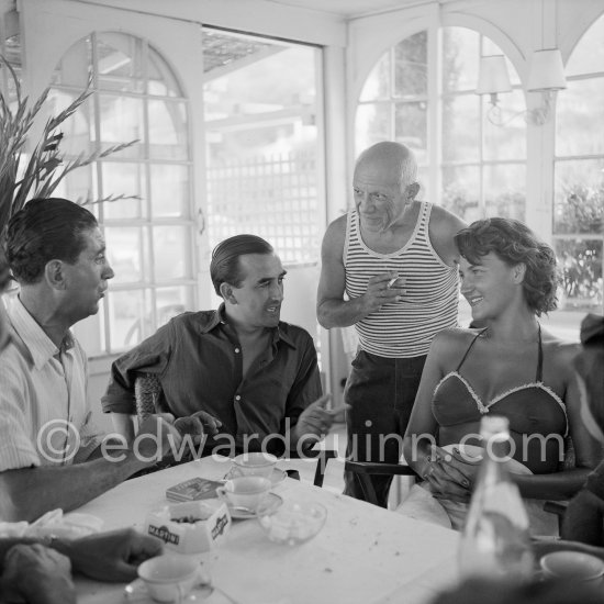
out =
<svg viewBox="0 0 604 604"><path fill-rule="evenodd" d="M394 94L426 96L428 92L428 33L406 37L394 47Z"/></svg>

